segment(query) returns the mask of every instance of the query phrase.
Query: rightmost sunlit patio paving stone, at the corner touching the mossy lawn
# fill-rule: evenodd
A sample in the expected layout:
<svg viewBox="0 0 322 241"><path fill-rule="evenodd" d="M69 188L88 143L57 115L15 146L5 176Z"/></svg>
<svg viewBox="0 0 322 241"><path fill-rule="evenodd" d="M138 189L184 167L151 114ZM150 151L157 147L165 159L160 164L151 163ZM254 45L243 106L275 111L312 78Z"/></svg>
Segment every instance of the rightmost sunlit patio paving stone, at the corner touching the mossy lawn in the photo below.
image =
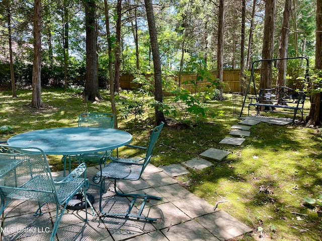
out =
<svg viewBox="0 0 322 241"><path fill-rule="evenodd" d="M239 222L224 211L207 214L196 219L219 240L228 240L241 234L253 231L252 228Z"/></svg>

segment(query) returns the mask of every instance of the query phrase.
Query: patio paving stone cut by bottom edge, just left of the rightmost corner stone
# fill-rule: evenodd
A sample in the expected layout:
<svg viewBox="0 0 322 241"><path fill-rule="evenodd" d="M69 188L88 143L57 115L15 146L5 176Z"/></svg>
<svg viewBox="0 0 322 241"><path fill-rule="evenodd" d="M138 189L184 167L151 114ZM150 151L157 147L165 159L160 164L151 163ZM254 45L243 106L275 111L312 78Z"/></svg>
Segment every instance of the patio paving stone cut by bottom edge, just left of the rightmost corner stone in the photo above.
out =
<svg viewBox="0 0 322 241"><path fill-rule="evenodd" d="M169 240L180 241L219 241L211 232L196 220L180 223L161 230Z"/></svg>

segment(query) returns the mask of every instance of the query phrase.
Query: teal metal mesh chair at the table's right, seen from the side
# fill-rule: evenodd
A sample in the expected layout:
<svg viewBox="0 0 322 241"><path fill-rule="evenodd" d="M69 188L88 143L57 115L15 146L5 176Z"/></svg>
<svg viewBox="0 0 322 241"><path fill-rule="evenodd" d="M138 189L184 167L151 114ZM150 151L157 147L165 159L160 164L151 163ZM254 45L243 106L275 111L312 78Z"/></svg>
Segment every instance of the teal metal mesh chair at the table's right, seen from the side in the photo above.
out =
<svg viewBox="0 0 322 241"><path fill-rule="evenodd" d="M111 160L112 162L106 164L105 167L101 165L101 170L94 175L93 177L93 182L94 183L99 183L101 182L101 188L100 188L100 211L103 215L105 216L117 216L117 217L135 217L138 219L144 219L144 220L149 220L149 221L155 221L156 218L151 218L151 217L145 217L142 215L143 208L145 206L145 203L148 198L156 199L156 200L162 200L162 197L156 197L156 196L150 196L146 194L140 194L140 193L120 193L116 190L116 182L117 180L131 180L131 181L136 181L138 180L144 169L146 168L147 164L150 162L151 157L152 157L152 151L155 146L155 143L160 135L160 132L164 126L164 123L162 122L159 126L155 127L152 131L149 145L147 148L144 147L138 147L138 146L132 146L136 148L141 148L141 149L146 149L146 154L144 158L140 160L131 160L131 159L126 159L126 158L119 158L119 157L112 157L112 156L107 156L106 158ZM103 192L105 191L105 180L106 179L112 179L114 180L114 191L117 195L119 196L125 196L125 197L133 197L133 200L131 201L127 211L125 213L110 213L110 212L105 212L102 208L102 196ZM137 214L131 213L131 210L135 204L135 201L137 198L143 198L142 204L140 206L140 209Z"/></svg>

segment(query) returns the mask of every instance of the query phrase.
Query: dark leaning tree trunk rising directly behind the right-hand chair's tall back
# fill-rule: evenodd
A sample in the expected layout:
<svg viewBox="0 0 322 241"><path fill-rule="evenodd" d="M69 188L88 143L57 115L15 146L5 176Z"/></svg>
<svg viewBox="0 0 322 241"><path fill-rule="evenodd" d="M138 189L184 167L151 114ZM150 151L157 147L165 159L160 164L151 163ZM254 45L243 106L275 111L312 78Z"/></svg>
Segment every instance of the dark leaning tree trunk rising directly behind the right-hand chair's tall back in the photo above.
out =
<svg viewBox="0 0 322 241"><path fill-rule="evenodd" d="M162 93L162 76L161 76L161 63L159 47L157 43L156 28L153 15L152 0L144 0L147 23L149 26L150 42L153 56L153 66L154 66L154 100L155 104L155 125L159 125L160 122L166 122L166 118L162 110L159 110L158 102L163 102Z"/></svg>

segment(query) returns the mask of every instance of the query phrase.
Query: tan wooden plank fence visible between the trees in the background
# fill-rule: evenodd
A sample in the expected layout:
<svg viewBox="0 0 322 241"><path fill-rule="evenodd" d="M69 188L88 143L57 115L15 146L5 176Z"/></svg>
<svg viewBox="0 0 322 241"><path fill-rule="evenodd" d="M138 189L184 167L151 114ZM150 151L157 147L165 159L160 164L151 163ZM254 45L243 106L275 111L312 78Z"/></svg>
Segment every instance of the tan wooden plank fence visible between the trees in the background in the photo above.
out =
<svg viewBox="0 0 322 241"><path fill-rule="evenodd" d="M212 72L214 78L216 77L216 73ZM231 93L231 92L239 92L239 75L240 70L233 69L233 70L224 70L223 71L223 82L224 82L224 92ZM133 87L139 87L137 83L132 83L132 80L134 79L133 74L123 74L120 77L120 87L122 89L132 89ZM181 83L184 83L185 81L196 81L197 75L195 74L184 74L181 76ZM178 82L179 77L176 76L175 80ZM199 81L197 83L197 88L202 88L206 85L209 85L210 82L207 81ZM195 92L195 84L181 84L181 86L190 92Z"/></svg>

